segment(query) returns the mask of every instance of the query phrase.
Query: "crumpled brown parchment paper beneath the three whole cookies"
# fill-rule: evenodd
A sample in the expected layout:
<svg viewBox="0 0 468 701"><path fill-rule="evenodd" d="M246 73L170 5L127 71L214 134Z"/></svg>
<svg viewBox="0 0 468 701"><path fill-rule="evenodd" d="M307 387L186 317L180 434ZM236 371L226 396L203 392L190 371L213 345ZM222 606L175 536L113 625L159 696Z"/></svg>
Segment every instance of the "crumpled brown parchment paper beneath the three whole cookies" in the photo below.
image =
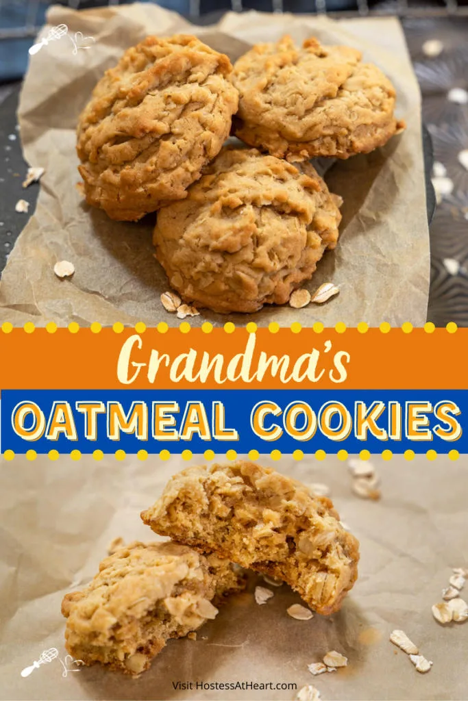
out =
<svg viewBox="0 0 468 701"><path fill-rule="evenodd" d="M91 48L72 53L69 38L52 41L32 57L19 107L25 158L46 168L36 212L11 253L0 289L0 320L15 325L44 325L71 320L87 325L165 320L178 325L163 310L159 296L168 289L166 275L153 257L151 232L156 219L138 224L112 222L86 204L76 183L75 134L79 112L96 81L115 64L124 49L147 34L191 32L232 60L250 44L274 41L285 32L300 42L314 34L325 43L345 43L363 51L392 79L398 93L398 115L406 132L384 149L335 163L327 173L330 189L342 195L340 245L327 253L308 284L340 286L340 295L325 306L301 310L267 307L255 315L225 317L210 311L192 318L215 325L229 318L238 324L276 320L305 325L366 321L393 325L426 319L429 284L429 238L425 209L421 144L420 93L406 43L394 18L343 20L305 15L229 13L213 27L193 27L179 15L152 4L114 6L75 12L54 7L48 27L65 23L69 33L92 36ZM89 42L88 42L89 43ZM27 191L25 193L27 199ZM11 203L12 207L14 203ZM21 215L18 215L21 216ZM53 265L72 261L72 279L55 278Z"/></svg>

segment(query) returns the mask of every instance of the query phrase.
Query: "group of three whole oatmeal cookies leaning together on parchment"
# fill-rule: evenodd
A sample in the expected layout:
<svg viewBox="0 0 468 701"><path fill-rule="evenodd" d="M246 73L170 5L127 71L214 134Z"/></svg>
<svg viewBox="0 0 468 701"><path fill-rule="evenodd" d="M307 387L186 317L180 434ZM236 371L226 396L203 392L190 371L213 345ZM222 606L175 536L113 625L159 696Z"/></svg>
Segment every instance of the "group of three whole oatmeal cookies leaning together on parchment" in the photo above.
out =
<svg viewBox="0 0 468 701"><path fill-rule="evenodd" d="M86 200L118 221L158 212L156 257L187 304L285 304L341 220L309 159L382 146L403 129L394 107L392 83L354 48L285 36L232 67L194 36L149 36L79 118ZM225 147L229 134L250 148Z"/></svg>

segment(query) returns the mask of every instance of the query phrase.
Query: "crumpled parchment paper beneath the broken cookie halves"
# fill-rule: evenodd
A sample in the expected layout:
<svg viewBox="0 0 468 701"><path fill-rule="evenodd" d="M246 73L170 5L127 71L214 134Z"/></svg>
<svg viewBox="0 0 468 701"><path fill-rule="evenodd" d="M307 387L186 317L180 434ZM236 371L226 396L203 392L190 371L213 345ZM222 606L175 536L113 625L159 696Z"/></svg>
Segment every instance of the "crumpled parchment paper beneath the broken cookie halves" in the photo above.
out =
<svg viewBox="0 0 468 701"><path fill-rule="evenodd" d="M194 464L203 458L194 456ZM468 622L445 627L432 617L451 567L468 566L468 471L462 461L425 457L407 463L373 458L382 477L382 500L363 501L351 491L347 466L324 463L271 463L304 482L324 482L342 519L361 541L359 579L340 613L309 621L288 617L300 598L286 585L274 589L265 606L248 592L231 597L218 617L199 629L198 639L170 641L137 680L99 666L62 677L58 660L27 679L21 670L46 648L65 657L65 592L81 588L116 536L156 538L139 513L160 494L169 475L187 463L151 458L141 463L107 457L97 463L52 463L15 458L0 465L0 611L2 700L293 700L295 691L176 692L176 681L258 681L312 683L324 701L443 700L468 698ZM467 599L465 587L464 599ZM463 596L463 593L462 593ZM428 674L415 671L407 655L389 642L403 629L434 662ZM312 676L307 665L329 650L349 658L333 674Z"/></svg>

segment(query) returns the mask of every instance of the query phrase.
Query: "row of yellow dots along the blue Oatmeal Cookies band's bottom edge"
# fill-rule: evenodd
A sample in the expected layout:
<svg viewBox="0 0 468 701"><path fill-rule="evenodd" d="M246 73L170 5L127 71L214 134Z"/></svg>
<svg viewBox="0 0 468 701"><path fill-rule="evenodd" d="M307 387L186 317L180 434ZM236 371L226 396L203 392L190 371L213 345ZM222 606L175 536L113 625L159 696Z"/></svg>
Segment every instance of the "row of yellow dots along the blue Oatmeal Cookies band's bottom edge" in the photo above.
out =
<svg viewBox="0 0 468 701"><path fill-rule="evenodd" d="M72 458L73 461L79 461L83 457L83 454L79 450L72 450L69 453L59 453L58 450L50 450L48 453L37 453L35 450L27 450L25 453L15 453L15 451L7 449L4 451L4 453L1 454L1 456L4 458L6 461L12 461L14 458L22 457L25 456L25 458L29 461L36 460L39 455L44 455L49 458L51 461L57 461L60 456L62 457L69 457ZM95 450L93 453L88 454L90 457L92 457L94 460L100 461L102 458L105 456L112 458L118 462L122 462L126 458L133 457L135 456L138 460L140 461L145 461L147 460L150 456L154 456L154 458L159 458L162 461L166 461L169 458L180 458L183 461L189 461L192 460L194 457L194 454L191 450L185 449L181 453L171 453L171 451L167 449L163 449L159 451L159 453L153 453L150 454L148 451L142 449L138 450L136 453L126 453L126 451L118 449L114 453L104 453L102 450ZM196 456L199 456L199 454L195 454ZM415 453L413 450L406 450L404 453L394 453L393 451L386 449L382 450L381 453L370 453L370 451L363 449L359 453L358 457L362 461L368 461L372 460L373 458L378 458L381 457L382 460L384 461L391 461L392 458L394 457L403 457L405 458L406 461L412 461L414 460L417 456L419 457L426 457L427 460L429 461L434 461L436 458L446 456L448 457L449 460L451 461L456 461L458 458L460 458L460 453L457 450L450 450L448 453L438 453L434 449L429 449L425 453ZM269 457L273 461L279 461L281 458L285 457L292 457L294 461L302 461L307 458L315 458L315 460L318 461L323 461L327 457L328 458L337 458L340 462L346 461L349 458L349 453L347 450L339 450L337 453L326 453L326 451L322 449L318 449L314 451L314 453L304 453L302 450L295 450L293 453L282 453L278 449L274 449L270 451L269 453L265 451L265 453L260 453L258 450L250 450L248 451L248 458L251 461L257 461L262 459L263 457ZM235 450L229 449L225 452L225 454L222 453L215 453L212 449L208 449L203 452L203 458L210 462L215 459L219 460L220 458L225 458L229 462L234 462L238 459L238 454ZM197 458L198 459L198 458Z"/></svg>

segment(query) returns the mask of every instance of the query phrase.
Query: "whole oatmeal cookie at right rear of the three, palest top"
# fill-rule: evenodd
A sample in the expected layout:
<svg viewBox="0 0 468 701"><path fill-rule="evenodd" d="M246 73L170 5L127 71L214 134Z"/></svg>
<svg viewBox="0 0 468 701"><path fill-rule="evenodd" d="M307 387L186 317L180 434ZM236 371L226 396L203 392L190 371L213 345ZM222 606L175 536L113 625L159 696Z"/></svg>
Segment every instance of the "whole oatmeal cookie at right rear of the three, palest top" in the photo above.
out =
<svg viewBox="0 0 468 701"><path fill-rule="evenodd" d="M404 128L394 116L392 83L347 46L312 38L298 49L283 36L241 56L232 80L236 136L290 161L366 154Z"/></svg>

